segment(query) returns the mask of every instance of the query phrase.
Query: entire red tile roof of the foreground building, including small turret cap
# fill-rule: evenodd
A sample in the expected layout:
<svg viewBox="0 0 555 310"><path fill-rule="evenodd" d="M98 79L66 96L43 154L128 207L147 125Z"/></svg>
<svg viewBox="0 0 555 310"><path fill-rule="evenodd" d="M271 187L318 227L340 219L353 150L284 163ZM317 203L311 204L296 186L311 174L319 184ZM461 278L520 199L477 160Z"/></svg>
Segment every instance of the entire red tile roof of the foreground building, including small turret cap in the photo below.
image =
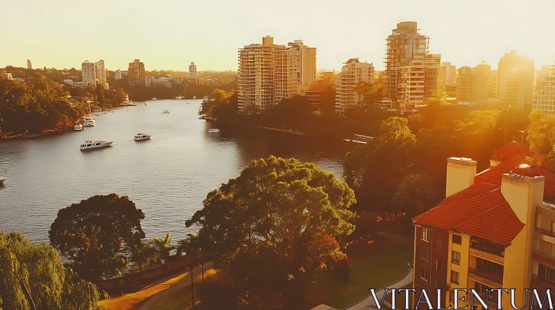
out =
<svg viewBox="0 0 555 310"><path fill-rule="evenodd" d="M511 156L512 155L512 156ZM441 201L435 208L413 217L413 223L454 230L508 246L524 224L501 193L502 175L544 176L544 197L555 198L555 174L535 165L524 156L533 153L522 143L512 142L493 154L499 165L477 174L474 185Z"/></svg>

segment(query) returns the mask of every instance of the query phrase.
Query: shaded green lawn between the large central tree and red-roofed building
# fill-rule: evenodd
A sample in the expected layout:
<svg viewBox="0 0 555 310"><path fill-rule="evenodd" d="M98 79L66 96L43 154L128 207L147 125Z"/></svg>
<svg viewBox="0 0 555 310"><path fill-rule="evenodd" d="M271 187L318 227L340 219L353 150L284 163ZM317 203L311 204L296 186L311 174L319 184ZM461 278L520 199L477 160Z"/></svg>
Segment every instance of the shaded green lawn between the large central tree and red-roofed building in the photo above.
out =
<svg viewBox="0 0 555 310"><path fill-rule="evenodd" d="M413 245L409 240L351 256L349 283L338 283L330 275L321 277L307 288L307 308L322 303L337 309L348 307L366 297L370 293L368 289L381 289L402 278L409 271L409 262L413 262Z"/></svg>

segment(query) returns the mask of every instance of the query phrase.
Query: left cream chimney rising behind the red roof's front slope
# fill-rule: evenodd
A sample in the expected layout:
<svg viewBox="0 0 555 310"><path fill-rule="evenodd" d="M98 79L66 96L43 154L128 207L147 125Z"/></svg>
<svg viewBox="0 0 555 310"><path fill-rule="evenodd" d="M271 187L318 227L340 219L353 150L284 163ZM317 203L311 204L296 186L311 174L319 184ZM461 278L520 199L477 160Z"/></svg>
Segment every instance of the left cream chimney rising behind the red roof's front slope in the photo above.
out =
<svg viewBox="0 0 555 310"><path fill-rule="evenodd" d="M466 190L474 184L477 161L471 158L447 158L447 182L445 183L445 197Z"/></svg>

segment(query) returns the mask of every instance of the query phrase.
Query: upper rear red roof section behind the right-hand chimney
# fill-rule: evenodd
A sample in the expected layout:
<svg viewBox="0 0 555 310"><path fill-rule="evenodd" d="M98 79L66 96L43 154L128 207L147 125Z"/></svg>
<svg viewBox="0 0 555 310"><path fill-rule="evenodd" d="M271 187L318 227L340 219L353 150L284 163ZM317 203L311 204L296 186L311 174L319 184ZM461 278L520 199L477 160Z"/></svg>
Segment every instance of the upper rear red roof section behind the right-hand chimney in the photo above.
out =
<svg viewBox="0 0 555 310"><path fill-rule="evenodd" d="M527 164L527 168L519 168L520 165ZM504 161L499 165L488 170L480 172L474 177L474 183L490 183L501 185L502 174L509 172L524 174L527 176L545 176L545 187L543 196L547 198L555 198L555 174L549 172L542 167L530 163L520 156L514 156L508 161Z"/></svg>

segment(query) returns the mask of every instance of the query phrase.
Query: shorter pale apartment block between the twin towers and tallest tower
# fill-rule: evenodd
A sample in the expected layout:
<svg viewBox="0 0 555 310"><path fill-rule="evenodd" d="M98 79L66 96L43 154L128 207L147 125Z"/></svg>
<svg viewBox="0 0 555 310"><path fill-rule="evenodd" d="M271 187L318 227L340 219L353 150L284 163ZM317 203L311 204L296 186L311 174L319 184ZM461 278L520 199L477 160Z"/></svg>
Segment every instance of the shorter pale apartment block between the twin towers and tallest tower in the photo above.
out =
<svg viewBox="0 0 555 310"><path fill-rule="evenodd" d="M341 68L339 82L336 84L335 109L340 114L348 108L356 107L363 99L357 91L360 82L374 83L374 65L351 58Z"/></svg>

